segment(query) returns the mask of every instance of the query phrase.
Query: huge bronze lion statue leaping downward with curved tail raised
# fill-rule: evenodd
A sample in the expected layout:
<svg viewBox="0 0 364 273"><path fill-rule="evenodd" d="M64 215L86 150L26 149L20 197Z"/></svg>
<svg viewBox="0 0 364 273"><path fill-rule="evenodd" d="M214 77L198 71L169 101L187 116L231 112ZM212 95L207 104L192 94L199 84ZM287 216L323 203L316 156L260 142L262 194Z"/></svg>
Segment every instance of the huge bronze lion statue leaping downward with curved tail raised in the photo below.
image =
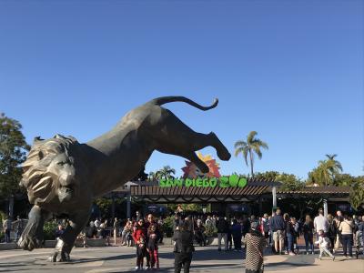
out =
<svg viewBox="0 0 364 273"><path fill-rule="evenodd" d="M161 107L170 102L185 102L205 111L216 107L218 101L200 106L184 96L159 97L131 110L106 134L85 144L72 136L35 137L20 182L34 207L18 245L27 250L39 248L45 220L52 214L64 215L69 224L50 260L69 260L94 198L136 177L154 150L185 157L204 173L208 167L197 157L197 150L210 146L221 160L230 158L214 133L197 133Z"/></svg>

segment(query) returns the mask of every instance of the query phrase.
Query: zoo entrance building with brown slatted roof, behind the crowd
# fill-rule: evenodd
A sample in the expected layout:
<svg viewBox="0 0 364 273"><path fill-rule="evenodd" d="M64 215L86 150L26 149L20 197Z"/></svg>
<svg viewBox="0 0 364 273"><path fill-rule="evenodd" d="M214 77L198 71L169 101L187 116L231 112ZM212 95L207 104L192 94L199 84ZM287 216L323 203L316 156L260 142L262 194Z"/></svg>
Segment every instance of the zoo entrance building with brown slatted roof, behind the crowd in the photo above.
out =
<svg viewBox="0 0 364 273"><path fill-rule="evenodd" d="M293 207L298 200L321 200L326 213L328 206L330 210L350 209L349 187L305 187L298 191L284 191L279 189L280 186L281 183L267 179L248 179L245 187L160 187L157 181L135 181L127 182L108 197L126 198L126 217L131 217L132 201L149 205L210 204L211 211L227 216L262 215L279 207L280 200L288 198L293 199Z"/></svg>

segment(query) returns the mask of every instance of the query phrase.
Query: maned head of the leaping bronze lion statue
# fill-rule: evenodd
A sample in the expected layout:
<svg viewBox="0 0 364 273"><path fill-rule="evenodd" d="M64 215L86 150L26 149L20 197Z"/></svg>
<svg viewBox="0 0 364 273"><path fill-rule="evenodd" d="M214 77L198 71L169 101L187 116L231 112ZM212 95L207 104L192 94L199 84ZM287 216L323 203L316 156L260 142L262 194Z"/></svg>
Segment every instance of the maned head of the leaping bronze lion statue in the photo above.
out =
<svg viewBox="0 0 364 273"><path fill-rule="evenodd" d="M76 178L75 147L79 145L72 136L56 135L42 140L35 138L23 164L21 186L27 189L29 201L42 205L54 201L69 201L76 196L79 179Z"/></svg>

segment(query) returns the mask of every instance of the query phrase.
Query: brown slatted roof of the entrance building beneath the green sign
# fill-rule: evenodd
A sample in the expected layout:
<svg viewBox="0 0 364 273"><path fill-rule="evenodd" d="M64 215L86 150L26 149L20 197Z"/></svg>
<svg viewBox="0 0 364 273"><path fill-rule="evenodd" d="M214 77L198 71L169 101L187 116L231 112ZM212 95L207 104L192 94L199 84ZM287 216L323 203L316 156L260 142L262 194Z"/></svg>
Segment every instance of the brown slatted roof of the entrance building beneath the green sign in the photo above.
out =
<svg viewBox="0 0 364 273"><path fill-rule="evenodd" d="M239 202L256 200L270 195L271 187L278 186L279 196L290 197L349 197L350 187L304 187L281 190L272 180L249 179L246 187L160 187L157 181L128 182L113 191L114 196L131 197L155 203L164 202Z"/></svg>

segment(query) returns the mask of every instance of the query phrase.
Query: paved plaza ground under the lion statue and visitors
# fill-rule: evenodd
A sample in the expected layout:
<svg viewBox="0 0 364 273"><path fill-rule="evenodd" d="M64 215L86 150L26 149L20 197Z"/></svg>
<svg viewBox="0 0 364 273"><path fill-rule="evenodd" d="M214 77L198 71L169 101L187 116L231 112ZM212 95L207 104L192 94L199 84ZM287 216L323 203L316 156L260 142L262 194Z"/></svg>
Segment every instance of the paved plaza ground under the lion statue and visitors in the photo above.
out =
<svg viewBox="0 0 364 273"><path fill-rule="evenodd" d="M161 247L160 272L173 272L173 248ZM244 272L244 259L241 252L218 252L216 247L196 248L191 272ZM131 272L135 267L135 248L74 248L72 261L50 263L46 261L50 248L0 251L0 272ZM338 256L332 262L329 258L319 260L317 256L298 255L296 257L265 257L265 272L285 273L363 273L363 259L346 259Z"/></svg>

